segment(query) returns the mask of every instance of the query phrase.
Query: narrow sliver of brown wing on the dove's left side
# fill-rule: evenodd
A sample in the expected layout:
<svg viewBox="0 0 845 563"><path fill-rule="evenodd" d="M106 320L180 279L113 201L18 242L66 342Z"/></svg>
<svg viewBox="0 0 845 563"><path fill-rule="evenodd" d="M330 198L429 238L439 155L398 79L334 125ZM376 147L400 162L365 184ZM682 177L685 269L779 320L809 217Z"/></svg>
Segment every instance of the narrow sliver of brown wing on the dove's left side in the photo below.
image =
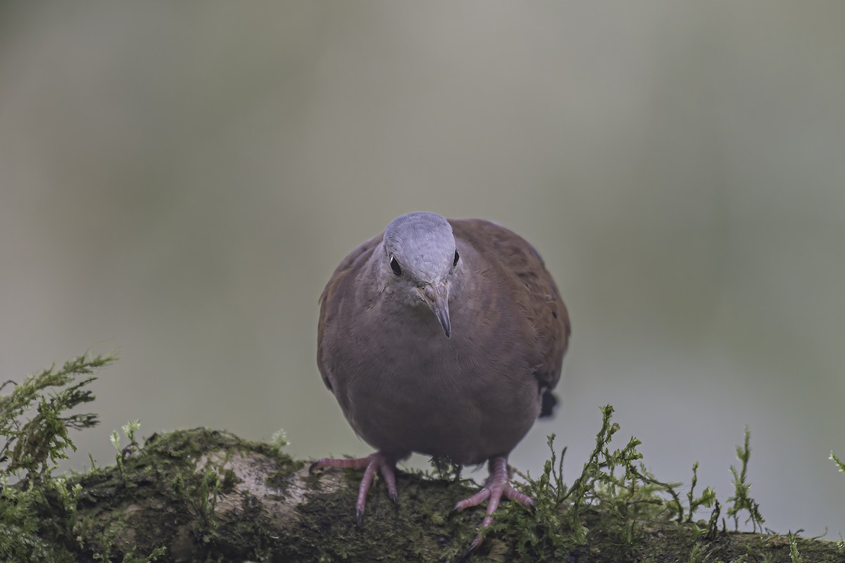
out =
<svg viewBox="0 0 845 563"><path fill-rule="evenodd" d="M356 273L362 268L363 263L367 262L373 248L379 245L384 234L373 236L369 241L364 242L355 250L350 252L346 258L341 260L341 263L335 268L335 273L331 274L329 283L325 284L323 293L319 296L319 322L317 324L317 366L319 367L320 375L323 376L323 382L326 387L329 387L331 392L334 392L331 386L331 376L329 366L324 362L324 341L323 336L325 332L325 324L327 321L334 319L341 307L341 300L339 295L354 295L352 284L355 283Z"/></svg>

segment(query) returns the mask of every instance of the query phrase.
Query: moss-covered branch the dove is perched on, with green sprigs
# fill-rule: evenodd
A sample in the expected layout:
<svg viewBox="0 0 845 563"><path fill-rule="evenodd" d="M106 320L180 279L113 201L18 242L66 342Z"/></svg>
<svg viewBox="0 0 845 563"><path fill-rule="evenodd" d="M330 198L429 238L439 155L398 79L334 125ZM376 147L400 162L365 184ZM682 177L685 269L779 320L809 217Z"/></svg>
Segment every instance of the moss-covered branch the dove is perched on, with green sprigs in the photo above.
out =
<svg viewBox="0 0 845 563"><path fill-rule="evenodd" d="M84 371L93 365L91 360L71 363L73 369L64 371L90 382L90 372ZM74 403L70 399L90 398L87 383L79 383L71 377L65 387L51 387L51 397L63 397L56 400L66 406ZM74 391L62 395L63 389ZM41 404L37 392L26 392ZM19 398L14 401L19 404ZM521 485L536 499L537 511L504 503L476 560L843 559L841 543L717 529L721 507L715 493L706 488L695 495L698 465L689 492L680 494L678 484L655 479L642 465L639 440L631 437L624 447L610 447L619 432L612 414L609 405L602 409L596 447L570 486L563 476L565 448L558 454L554 437L549 437L551 452L543 473L537 479L525 475ZM60 409L52 420L67 417ZM23 432L29 422L4 424ZM86 474L52 477L52 463L62 452L52 457L49 449L46 455L37 450L41 457L28 457L35 465L18 463L13 473L35 470L42 478L9 485L13 458L8 457L0 490L0 560L447 561L464 553L482 519L477 511L446 518L456 501L477 490L452 474L457 468L442 466L433 475L401 474L398 509L384 487L374 487L363 528L357 528L352 506L360 473L310 475L303 461L283 452L281 434L268 444L215 430L179 430L150 436L141 445L138 429L137 421L123 428L129 447L121 447L120 436L114 439L115 466ZM56 447L65 443L55 437L61 436L58 432L43 436ZM6 451L11 456L14 447ZM736 470L736 479L747 485L747 435L738 453L743 467ZM748 489L744 492L744 497L729 500L731 508L752 506L759 515ZM693 522L702 506L713 506L703 528Z"/></svg>

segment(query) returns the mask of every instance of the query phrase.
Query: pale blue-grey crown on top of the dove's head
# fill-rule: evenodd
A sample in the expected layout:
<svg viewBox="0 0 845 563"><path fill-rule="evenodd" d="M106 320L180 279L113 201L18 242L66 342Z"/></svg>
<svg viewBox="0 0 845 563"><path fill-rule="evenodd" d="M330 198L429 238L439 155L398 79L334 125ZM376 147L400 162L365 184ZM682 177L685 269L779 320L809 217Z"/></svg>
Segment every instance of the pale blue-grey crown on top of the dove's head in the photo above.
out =
<svg viewBox="0 0 845 563"><path fill-rule="evenodd" d="M436 213L402 215L384 229L384 252L421 282L444 279L455 259L452 225Z"/></svg>

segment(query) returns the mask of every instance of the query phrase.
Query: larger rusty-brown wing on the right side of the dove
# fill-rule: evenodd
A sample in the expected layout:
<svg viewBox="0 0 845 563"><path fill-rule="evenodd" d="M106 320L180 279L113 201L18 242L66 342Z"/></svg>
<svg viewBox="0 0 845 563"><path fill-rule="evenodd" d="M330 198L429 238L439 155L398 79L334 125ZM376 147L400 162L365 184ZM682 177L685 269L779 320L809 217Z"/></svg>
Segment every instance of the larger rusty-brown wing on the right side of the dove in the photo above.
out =
<svg viewBox="0 0 845 563"><path fill-rule="evenodd" d="M498 261L504 275L511 275L525 291L516 291L520 310L530 321L539 354L533 376L543 393L543 414L551 414L564 354L570 339L570 317L542 257L513 231L482 219L450 219L455 238L469 242L488 261ZM460 243L458 246L460 251Z"/></svg>

